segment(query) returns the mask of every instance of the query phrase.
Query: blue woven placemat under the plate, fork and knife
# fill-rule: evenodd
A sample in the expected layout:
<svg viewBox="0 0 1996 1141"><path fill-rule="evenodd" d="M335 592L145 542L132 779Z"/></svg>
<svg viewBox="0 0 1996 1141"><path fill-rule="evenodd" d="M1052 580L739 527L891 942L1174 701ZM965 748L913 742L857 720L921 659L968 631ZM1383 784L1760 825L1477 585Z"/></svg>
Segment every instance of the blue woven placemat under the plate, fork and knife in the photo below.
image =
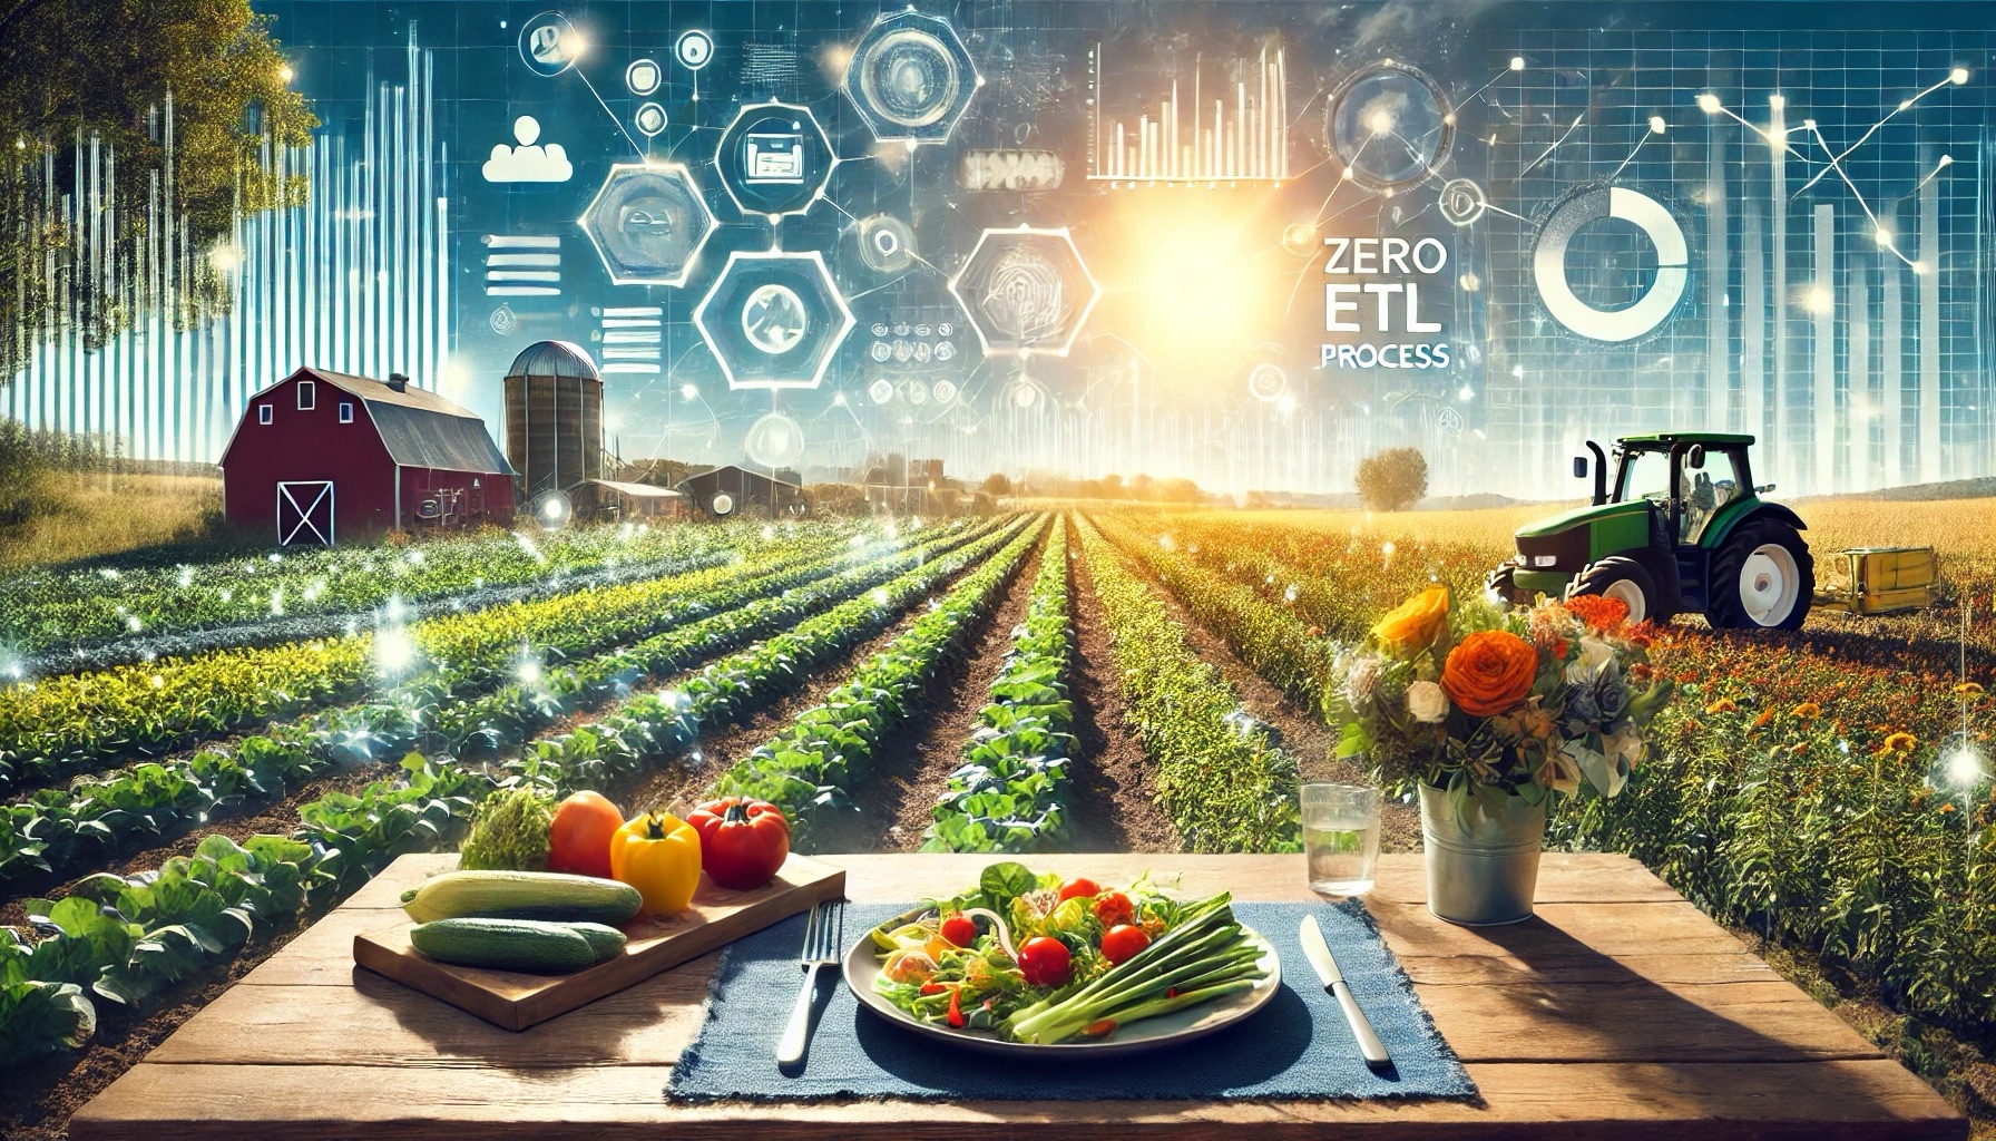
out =
<svg viewBox="0 0 1996 1141"><path fill-rule="evenodd" d="M846 941L908 905L848 905ZM715 971L701 1037L673 1067L671 1101L1104 1101L1475 1097L1475 1083L1435 1033L1407 975L1359 903L1236 903L1236 915L1281 957L1281 991L1253 1017L1182 1047L1090 1059L1016 1061L954 1051L888 1025L844 981L820 997L810 1055L776 1067L776 1039L796 1003L804 917L731 945ZM1297 925L1315 915L1359 1007L1393 1055L1389 1073L1359 1057L1351 1029L1303 959ZM828 973L826 973L828 975ZM822 995L822 991L820 991Z"/></svg>

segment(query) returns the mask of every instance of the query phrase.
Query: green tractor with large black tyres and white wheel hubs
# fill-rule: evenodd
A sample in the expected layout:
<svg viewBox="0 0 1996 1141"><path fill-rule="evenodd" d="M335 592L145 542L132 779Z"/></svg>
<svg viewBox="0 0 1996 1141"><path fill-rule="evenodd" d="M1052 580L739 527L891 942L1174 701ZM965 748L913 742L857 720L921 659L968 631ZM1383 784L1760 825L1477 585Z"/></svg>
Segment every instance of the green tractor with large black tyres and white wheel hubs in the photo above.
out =
<svg viewBox="0 0 1996 1141"><path fill-rule="evenodd" d="M1601 593L1629 605L1633 621L1669 621L1703 611L1717 629L1796 629L1816 593L1816 562L1802 520L1760 498L1746 450L1752 436L1661 432L1615 442L1609 458L1593 440L1595 502L1517 532L1517 558L1491 571L1497 595Z"/></svg>

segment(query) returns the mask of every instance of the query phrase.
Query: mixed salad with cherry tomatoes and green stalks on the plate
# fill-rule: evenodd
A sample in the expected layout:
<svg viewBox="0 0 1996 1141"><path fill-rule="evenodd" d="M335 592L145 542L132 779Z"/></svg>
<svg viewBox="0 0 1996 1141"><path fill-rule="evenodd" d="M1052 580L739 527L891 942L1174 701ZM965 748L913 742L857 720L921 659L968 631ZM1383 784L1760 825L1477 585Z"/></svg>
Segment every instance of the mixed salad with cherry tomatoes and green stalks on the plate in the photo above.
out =
<svg viewBox="0 0 1996 1141"><path fill-rule="evenodd" d="M976 889L870 931L874 989L908 1015L1006 1041L1104 1039L1140 1019L1249 991L1263 945L1232 895L1178 901L1150 879L1104 887L994 863Z"/></svg>

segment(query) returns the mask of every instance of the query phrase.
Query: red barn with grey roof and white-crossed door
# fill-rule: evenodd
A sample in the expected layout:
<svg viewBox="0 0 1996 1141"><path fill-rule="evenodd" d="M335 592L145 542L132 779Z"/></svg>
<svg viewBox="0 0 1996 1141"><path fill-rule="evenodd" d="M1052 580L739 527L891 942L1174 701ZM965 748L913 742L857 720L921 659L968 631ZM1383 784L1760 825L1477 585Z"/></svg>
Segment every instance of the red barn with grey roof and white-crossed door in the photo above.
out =
<svg viewBox="0 0 1996 1141"><path fill-rule="evenodd" d="M251 396L222 486L230 522L279 546L513 518L485 422L403 376L301 368Z"/></svg>

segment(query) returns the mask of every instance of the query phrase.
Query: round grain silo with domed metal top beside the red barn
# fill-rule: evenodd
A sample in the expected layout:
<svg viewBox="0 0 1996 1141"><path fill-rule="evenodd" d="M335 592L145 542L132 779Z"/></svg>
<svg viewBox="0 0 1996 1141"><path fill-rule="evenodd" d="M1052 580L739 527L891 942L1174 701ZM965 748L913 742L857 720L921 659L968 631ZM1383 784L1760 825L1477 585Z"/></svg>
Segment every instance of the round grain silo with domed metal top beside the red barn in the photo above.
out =
<svg viewBox="0 0 1996 1141"><path fill-rule="evenodd" d="M521 500L603 478L603 376L573 342L535 342L505 372L505 458Z"/></svg>

